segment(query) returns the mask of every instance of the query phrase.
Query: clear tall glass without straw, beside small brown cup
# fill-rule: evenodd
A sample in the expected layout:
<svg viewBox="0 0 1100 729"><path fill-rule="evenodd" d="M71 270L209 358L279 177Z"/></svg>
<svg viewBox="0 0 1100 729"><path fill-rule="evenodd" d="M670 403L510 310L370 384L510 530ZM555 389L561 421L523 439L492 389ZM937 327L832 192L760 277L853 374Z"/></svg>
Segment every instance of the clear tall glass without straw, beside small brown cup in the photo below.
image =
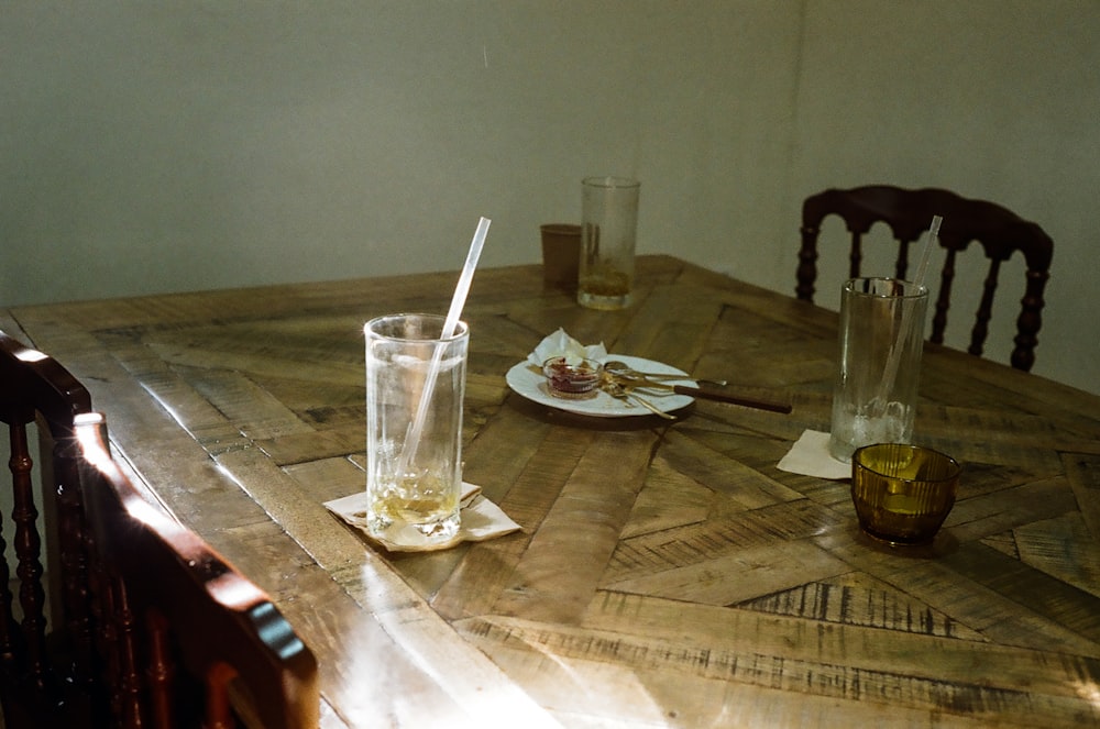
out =
<svg viewBox="0 0 1100 729"><path fill-rule="evenodd" d="M641 183L627 177L581 181L581 265L576 300L592 309L630 306Z"/></svg>

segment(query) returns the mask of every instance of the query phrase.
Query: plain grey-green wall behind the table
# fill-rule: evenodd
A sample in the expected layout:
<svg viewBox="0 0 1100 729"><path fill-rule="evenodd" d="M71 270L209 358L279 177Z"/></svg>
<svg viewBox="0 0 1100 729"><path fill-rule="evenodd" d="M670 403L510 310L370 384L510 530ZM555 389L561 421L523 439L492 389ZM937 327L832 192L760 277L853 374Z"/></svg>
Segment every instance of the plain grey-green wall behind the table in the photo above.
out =
<svg viewBox="0 0 1100 729"><path fill-rule="evenodd" d="M593 174L642 180L640 252L793 296L806 195L938 186L1052 235L1034 372L1100 393L1098 37L1091 0L10 1L0 305L457 270L483 214L531 263Z"/></svg>

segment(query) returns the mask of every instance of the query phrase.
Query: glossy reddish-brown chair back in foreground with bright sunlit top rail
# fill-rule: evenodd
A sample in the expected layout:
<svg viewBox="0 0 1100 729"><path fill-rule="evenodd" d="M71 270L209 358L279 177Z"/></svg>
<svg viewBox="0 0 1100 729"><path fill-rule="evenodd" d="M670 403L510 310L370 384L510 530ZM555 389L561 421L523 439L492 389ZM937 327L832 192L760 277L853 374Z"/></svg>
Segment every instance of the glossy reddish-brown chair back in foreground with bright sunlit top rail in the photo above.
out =
<svg viewBox="0 0 1100 729"><path fill-rule="evenodd" d="M114 726L312 729L317 661L271 599L146 500L79 416L94 617Z"/></svg>

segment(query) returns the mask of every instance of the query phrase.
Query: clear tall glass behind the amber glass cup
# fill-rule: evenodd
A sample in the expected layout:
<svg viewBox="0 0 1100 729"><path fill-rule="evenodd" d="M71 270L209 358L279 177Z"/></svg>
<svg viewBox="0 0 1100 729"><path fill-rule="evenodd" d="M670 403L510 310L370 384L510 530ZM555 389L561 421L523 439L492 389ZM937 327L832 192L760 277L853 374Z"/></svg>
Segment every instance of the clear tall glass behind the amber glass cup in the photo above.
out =
<svg viewBox="0 0 1100 729"><path fill-rule="evenodd" d="M928 289L894 278L853 278L840 294L839 354L829 453L908 443L916 415Z"/></svg>

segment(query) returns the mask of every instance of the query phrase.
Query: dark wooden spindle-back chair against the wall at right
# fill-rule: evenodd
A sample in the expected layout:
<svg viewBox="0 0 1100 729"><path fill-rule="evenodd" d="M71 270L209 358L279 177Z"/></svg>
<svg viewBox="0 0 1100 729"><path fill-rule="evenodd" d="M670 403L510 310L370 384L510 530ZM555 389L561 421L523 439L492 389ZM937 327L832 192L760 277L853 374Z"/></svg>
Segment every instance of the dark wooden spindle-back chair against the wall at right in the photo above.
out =
<svg viewBox="0 0 1100 729"><path fill-rule="evenodd" d="M926 188L906 190L888 185L871 185L850 190L829 189L805 199L802 206L802 247L799 252L798 297L813 301L817 278L817 236L822 220L836 214L844 219L851 233L849 276L860 275L861 236L876 222L887 223L899 243L894 276L905 278L909 269L910 244L920 240L933 216L943 216L939 244L947 251L939 274L939 292L932 321L931 341L942 344L950 308L955 259L971 241L978 241L989 259L970 346L967 351L981 355L992 314L993 294L1003 261L1020 251L1027 267L1021 312L1016 319L1012 366L1025 372L1035 362L1037 334L1043 324L1043 289L1049 276L1054 243L1033 222L1020 219L1011 211L985 200L969 200L948 190ZM917 253L917 255L920 255ZM932 287L930 286L930 289Z"/></svg>

